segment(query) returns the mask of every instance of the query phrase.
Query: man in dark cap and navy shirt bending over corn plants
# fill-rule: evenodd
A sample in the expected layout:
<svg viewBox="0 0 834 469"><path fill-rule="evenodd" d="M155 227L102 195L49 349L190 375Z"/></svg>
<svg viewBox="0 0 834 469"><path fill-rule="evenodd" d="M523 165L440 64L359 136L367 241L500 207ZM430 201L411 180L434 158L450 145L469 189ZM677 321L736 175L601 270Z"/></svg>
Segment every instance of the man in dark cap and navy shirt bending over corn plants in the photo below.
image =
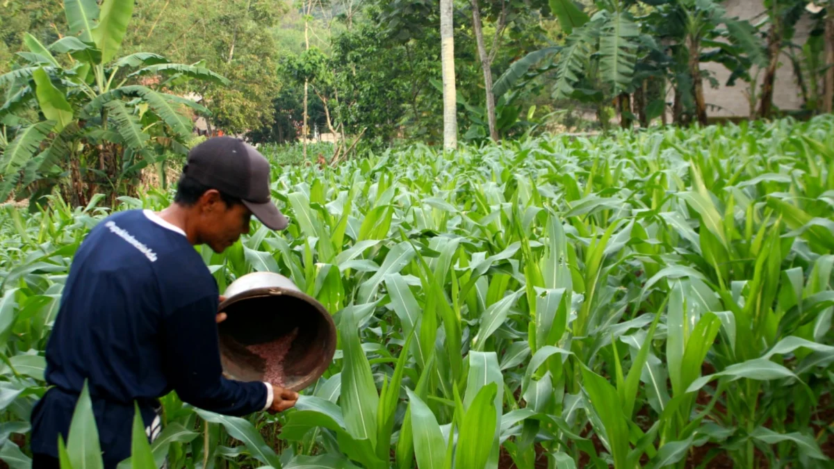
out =
<svg viewBox="0 0 834 469"><path fill-rule="evenodd" d="M223 252L249 232L253 214L284 229L269 194L264 156L239 139L208 139L188 154L171 206L118 212L91 230L47 345L52 387L31 417L34 469L58 467L58 434L68 441L85 381L107 468L130 456L134 401L152 441L161 430L158 397L170 391L229 416L295 405L294 391L222 376L216 323L225 319L224 298L193 248Z"/></svg>

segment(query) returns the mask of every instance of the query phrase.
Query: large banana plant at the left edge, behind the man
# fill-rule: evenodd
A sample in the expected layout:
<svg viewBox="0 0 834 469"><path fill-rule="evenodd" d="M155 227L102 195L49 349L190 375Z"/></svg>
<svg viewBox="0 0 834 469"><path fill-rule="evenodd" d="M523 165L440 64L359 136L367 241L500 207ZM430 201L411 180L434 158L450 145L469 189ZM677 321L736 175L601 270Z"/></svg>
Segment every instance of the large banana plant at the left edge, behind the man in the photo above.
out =
<svg viewBox="0 0 834 469"><path fill-rule="evenodd" d="M44 45L27 33L22 63L0 75L7 90L0 121L10 124L0 141L0 199L15 192L34 203L56 185L73 204L96 192L111 201L131 194L143 167L162 169L167 154L186 153L187 108L208 114L161 89L193 78L229 83L202 63L169 63L156 53L117 57L133 2L68 0L64 13L69 34Z"/></svg>

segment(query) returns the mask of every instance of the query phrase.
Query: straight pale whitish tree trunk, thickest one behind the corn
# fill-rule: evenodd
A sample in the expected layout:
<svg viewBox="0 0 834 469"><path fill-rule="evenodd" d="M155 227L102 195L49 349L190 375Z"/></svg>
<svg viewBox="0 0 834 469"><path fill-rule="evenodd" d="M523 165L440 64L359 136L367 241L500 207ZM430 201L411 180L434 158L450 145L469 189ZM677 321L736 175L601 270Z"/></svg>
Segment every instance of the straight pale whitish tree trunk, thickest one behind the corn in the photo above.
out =
<svg viewBox="0 0 834 469"><path fill-rule="evenodd" d="M443 146L458 146L457 93L455 91L455 37L452 0L440 0L440 59L443 66Z"/></svg>

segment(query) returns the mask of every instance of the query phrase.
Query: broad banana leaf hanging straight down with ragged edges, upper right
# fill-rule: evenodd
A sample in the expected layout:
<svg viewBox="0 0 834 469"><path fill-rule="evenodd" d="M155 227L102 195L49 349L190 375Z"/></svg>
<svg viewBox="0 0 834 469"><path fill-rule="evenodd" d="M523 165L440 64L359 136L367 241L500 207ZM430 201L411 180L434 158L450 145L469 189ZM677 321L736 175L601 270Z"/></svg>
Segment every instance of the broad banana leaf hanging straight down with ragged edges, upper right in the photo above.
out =
<svg viewBox="0 0 834 469"><path fill-rule="evenodd" d="M632 38L640 35L640 28L627 13L615 13L602 27L600 36L600 72L602 79L614 88L614 94L631 85L636 62L637 44Z"/></svg>

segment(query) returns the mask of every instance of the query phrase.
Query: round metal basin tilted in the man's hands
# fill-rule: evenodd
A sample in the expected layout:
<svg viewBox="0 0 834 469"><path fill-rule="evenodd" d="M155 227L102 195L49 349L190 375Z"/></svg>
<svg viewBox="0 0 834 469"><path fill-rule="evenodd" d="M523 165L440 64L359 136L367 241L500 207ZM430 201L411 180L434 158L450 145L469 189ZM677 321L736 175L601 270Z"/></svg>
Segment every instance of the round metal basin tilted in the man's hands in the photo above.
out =
<svg viewBox="0 0 834 469"><path fill-rule="evenodd" d="M336 352L336 326L324 306L284 275L254 272L232 282L220 310L220 361L224 375L239 381L267 381L267 362L249 345L276 343L295 328L297 336L279 373L284 387L301 391L327 371ZM279 368L273 366L272 375ZM273 383L278 385L279 383Z"/></svg>

